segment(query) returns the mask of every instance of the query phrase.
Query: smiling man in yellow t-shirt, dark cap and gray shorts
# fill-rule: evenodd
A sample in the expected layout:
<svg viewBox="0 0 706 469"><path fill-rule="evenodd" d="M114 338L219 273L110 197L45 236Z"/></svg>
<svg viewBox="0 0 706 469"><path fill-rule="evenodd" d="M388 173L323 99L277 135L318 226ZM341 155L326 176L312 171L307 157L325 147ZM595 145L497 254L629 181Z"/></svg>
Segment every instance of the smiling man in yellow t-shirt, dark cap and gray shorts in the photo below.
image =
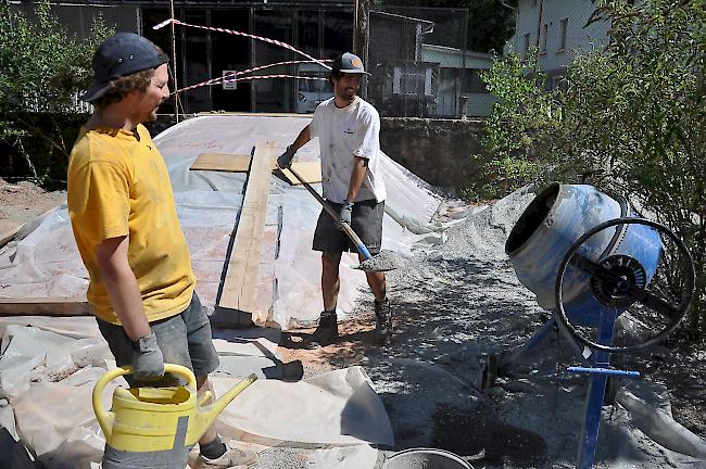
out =
<svg viewBox="0 0 706 469"><path fill-rule="evenodd" d="M175 377L164 375L166 362L190 368L203 393L218 355L193 291L167 169L142 126L169 96L167 61L131 33L113 35L96 51L93 83L81 97L94 112L72 150L68 213L90 275L88 301L117 365L134 367L130 385L174 384ZM196 467L257 459L227 447L213 428L199 449ZM164 453L163 467L185 467L186 451ZM133 467L139 457L106 445L103 468Z"/></svg>

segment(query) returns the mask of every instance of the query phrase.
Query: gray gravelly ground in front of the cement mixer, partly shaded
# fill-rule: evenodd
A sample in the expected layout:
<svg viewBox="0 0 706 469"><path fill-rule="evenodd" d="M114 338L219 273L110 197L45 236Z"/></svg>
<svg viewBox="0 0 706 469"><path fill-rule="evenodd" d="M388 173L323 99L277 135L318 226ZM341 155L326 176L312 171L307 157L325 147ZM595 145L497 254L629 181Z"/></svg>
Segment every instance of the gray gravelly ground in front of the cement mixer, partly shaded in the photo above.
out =
<svg viewBox="0 0 706 469"><path fill-rule="evenodd" d="M389 346L374 342L373 302L366 300L340 325L336 344L310 351L292 333L280 346L283 360L302 360L305 376L363 366L394 430L395 447L386 453L442 448L476 469L575 467L585 386L566 372L577 362L560 340L496 386L479 390L478 357L521 343L549 318L504 254L505 238L532 198L517 194L468 217L447 231L445 245L418 252L389 272L395 326ZM627 383L631 392L668 400L675 419L706 438L704 343L699 351L676 332L647 353L614 363L645 377ZM604 421L596 468L670 467L661 448L631 429L618 404L605 408Z"/></svg>

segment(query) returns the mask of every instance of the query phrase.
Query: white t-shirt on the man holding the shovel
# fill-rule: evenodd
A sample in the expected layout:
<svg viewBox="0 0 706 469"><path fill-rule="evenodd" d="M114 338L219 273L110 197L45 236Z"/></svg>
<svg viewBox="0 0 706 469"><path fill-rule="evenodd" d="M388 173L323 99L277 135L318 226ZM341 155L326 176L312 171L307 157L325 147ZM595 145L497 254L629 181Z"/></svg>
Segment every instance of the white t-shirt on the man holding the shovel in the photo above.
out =
<svg viewBox="0 0 706 469"><path fill-rule="evenodd" d="M333 98L320 103L314 111L310 125L311 137L318 137L322 152L324 198L343 203L351 183L354 156L368 161L368 167L355 202L387 198L380 174L380 116L378 112L356 97L343 109Z"/></svg>

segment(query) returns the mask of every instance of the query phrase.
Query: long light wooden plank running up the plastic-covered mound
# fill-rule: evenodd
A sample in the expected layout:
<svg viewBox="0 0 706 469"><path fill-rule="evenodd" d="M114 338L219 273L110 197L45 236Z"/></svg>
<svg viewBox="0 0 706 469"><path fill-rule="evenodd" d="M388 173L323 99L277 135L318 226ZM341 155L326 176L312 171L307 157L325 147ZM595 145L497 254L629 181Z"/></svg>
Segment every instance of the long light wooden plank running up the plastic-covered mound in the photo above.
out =
<svg viewBox="0 0 706 469"><path fill-rule="evenodd" d="M260 257L274 160L273 142L255 145L236 238L218 301L222 308L256 313Z"/></svg>

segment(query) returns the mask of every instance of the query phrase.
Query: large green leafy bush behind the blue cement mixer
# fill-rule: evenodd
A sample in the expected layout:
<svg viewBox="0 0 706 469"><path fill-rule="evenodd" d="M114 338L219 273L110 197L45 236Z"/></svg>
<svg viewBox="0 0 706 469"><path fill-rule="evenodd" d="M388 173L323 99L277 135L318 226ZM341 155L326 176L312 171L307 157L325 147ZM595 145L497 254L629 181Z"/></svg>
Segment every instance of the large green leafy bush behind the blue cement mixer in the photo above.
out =
<svg viewBox="0 0 706 469"><path fill-rule="evenodd" d="M697 272L690 326L704 331L706 1L630 3L597 2L591 21L609 22L609 43L577 58L558 90L517 56L496 59L484 79L502 101L486 143L500 156L488 169L508 189L588 178L629 194L689 245Z"/></svg>

